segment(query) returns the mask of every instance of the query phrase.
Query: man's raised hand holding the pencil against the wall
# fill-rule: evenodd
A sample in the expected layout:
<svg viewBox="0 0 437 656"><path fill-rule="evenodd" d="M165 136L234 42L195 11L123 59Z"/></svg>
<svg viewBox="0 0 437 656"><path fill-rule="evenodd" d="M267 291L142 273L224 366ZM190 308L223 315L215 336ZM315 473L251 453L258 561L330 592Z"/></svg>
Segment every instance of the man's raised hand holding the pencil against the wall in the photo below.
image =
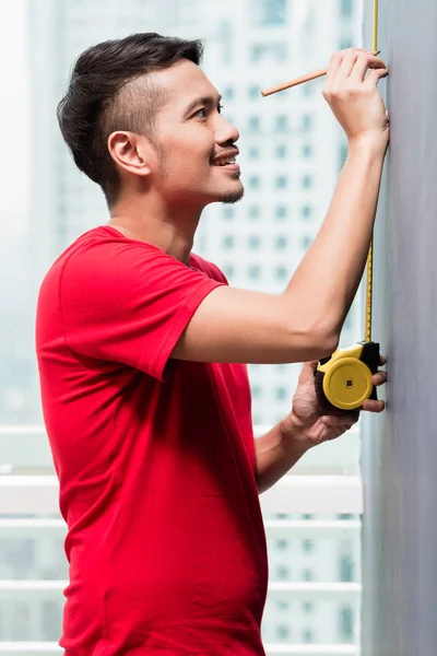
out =
<svg viewBox="0 0 437 656"><path fill-rule="evenodd" d="M382 59L363 48L332 55L322 94L350 143L369 139L376 140L383 151L387 149L389 115L377 89L386 75L388 69Z"/></svg>

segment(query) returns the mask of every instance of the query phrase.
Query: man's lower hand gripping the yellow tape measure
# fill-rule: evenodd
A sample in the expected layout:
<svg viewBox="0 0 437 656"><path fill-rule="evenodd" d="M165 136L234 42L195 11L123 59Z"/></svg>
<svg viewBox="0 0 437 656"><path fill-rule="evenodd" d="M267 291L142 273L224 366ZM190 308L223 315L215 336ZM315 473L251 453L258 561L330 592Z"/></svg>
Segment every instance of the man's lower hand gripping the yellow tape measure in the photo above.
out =
<svg viewBox="0 0 437 656"><path fill-rule="evenodd" d="M386 364L386 358L380 359L380 364ZM316 444L322 444L329 440L335 440L349 431L359 419L359 411L347 414L323 414L316 394L315 371L318 362L306 362L299 375L299 380L293 397L293 408L290 414L281 422L281 431L286 437L303 442L307 448ZM378 371L371 377L371 383L379 387L387 380L387 374ZM383 401L367 399L363 403L363 410L368 412L382 412Z"/></svg>

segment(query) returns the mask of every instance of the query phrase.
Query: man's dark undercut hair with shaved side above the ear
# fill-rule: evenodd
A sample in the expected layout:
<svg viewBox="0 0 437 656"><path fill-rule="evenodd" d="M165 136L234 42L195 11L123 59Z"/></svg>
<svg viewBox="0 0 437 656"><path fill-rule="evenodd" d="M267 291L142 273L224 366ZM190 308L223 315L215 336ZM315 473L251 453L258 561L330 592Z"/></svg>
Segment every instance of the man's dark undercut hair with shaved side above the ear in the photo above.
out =
<svg viewBox="0 0 437 656"><path fill-rule="evenodd" d="M76 60L57 108L59 127L76 166L102 187L109 208L120 189L109 134L126 130L153 142L155 116L165 97L147 73L184 58L199 66L202 56L199 39L147 32L97 44Z"/></svg>

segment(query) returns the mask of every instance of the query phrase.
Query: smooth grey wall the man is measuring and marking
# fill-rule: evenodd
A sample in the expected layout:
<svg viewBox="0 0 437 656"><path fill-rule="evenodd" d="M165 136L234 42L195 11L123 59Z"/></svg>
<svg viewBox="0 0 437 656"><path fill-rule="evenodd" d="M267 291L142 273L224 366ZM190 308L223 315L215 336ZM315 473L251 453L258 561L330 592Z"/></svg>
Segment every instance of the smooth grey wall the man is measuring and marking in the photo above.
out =
<svg viewBox="0 0 437 656"><path fill-rule="evenodd" d="M364 425L363 656L436 656L437 3L379 5L391 139L375 231L373 338L387 353L389 383L385 415Z"/></svg>

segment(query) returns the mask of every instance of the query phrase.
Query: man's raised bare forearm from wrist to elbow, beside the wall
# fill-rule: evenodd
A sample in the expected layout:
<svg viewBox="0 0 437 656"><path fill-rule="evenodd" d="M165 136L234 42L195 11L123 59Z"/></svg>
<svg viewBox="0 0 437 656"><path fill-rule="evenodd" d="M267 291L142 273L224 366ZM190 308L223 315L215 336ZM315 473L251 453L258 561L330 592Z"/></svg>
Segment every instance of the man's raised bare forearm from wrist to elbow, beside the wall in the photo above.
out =
<svg viewBox="0 0 437 656"><path fill-rule="evenodd" d="M366 265L377 209L383 152L350 147L328 214L284 295L314 314L316 327L339 335ZM294 305L295 306L295 305Z"/></svg>

